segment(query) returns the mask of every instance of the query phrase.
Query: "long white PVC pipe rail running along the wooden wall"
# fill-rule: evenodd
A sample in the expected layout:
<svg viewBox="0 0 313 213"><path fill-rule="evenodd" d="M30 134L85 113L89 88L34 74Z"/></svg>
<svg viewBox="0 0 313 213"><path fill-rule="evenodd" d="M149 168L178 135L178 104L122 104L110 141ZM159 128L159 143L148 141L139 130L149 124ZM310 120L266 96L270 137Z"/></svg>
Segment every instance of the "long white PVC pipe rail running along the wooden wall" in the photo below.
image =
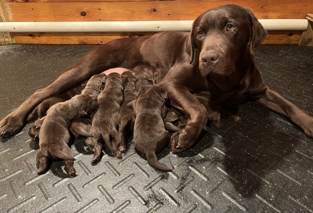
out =
<svg viewBox="0 0 313 213"><path fill-rule="evenodd" d="M260 19L267 30L306 30L306 19ZM190 31L193 21L0 22L0 32L161 32Z"/></svg>

